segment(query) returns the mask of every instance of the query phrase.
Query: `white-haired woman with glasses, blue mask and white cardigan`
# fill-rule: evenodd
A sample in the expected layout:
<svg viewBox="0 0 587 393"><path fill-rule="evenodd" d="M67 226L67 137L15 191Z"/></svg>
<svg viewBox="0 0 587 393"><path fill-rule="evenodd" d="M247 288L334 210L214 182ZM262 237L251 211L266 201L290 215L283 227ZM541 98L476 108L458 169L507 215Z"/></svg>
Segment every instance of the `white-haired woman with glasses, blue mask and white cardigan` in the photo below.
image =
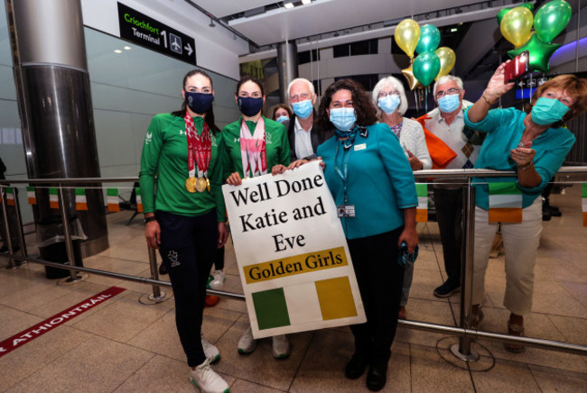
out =
<svg viewBox="0 0 587 393"><path fill-rule="evenodd" d="M407 97L402 83L394 77L383 78L373 88L372 96L377 107L377 119L381 123L386 123L396 134L412 170L431 169L432 160L426 146L422 125L403 116L407 110ZM405 305L410 295L413 278L414 265L408 263L405 265L404 287L397 315L400 319L406 317Z"/></svg>

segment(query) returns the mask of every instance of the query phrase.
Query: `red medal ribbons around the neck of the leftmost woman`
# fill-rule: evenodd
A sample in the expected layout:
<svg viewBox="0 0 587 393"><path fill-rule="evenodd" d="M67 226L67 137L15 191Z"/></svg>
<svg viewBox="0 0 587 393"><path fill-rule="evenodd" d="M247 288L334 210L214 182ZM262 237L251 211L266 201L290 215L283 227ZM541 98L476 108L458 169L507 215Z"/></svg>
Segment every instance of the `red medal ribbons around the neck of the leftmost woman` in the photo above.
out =
<svg viewBox="0 0 587 393"><path fill-rule="evenodd" d="M208 176L210 160L212 158L212 138L210 136L210 127L204 122L201 135L196 132L196 125L188 111L185 111L183 117L185 122L185 134L188 140L188 169L190 178L196 177L196 167L198 164L198 177Z"/></svg>

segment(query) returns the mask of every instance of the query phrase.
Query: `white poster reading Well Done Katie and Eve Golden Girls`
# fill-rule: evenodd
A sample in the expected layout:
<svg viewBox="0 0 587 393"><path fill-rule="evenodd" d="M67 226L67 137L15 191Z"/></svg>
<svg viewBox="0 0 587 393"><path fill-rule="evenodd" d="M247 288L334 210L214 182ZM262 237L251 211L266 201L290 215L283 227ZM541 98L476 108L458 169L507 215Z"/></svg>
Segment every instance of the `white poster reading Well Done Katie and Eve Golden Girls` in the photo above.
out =
<svg viewBox="0 0 587 393"><path fill-rule="evenodd" d="M366 321L318 162L222 191L256 338Z"/></svg>

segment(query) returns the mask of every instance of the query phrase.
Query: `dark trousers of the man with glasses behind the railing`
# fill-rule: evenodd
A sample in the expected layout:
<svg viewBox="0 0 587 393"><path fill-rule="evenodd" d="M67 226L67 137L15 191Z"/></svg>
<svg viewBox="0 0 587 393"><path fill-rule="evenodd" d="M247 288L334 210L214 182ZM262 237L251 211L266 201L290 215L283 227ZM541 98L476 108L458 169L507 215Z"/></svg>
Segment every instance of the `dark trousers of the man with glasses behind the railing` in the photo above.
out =
<svg viewBox="0 0 587 393"><path fill-rule="evenodd" d="M436 219L448 279L461 283L462 188L434 188Z"/></svg>

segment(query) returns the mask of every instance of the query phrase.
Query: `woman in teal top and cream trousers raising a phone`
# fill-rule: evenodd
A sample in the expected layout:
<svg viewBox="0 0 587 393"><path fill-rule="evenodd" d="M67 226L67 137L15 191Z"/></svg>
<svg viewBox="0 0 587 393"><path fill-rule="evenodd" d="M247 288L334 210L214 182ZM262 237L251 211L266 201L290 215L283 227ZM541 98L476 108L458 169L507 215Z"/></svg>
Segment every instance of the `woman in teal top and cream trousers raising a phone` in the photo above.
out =
<svg viewBox="0 0 587 393"><path fill-rule="evenodd" d="M523 335L524 315L532 309L534 266L542 233L540 194L573 147L575 137L563 125L587 108L587 79L561 75L545 82L536 88L529 113L516 108L489 110L514 87L504 82L505 65L498 67L483 95L465 114L467 125L487 133L475 168L516 171L513 179L475 180L472 327L478 326L482 316L485 271L495 226L500 222L506 253L504 306L510 311L508 334ZM516 217L491 214L497 198L492 199L490 194L497 194L495 191L501 204L506 200L507 207L517 206L510 209L520 211ZM514 197L508 197L512 194ZM522 352L524 347L506 344L506 349Z"/></svg>

